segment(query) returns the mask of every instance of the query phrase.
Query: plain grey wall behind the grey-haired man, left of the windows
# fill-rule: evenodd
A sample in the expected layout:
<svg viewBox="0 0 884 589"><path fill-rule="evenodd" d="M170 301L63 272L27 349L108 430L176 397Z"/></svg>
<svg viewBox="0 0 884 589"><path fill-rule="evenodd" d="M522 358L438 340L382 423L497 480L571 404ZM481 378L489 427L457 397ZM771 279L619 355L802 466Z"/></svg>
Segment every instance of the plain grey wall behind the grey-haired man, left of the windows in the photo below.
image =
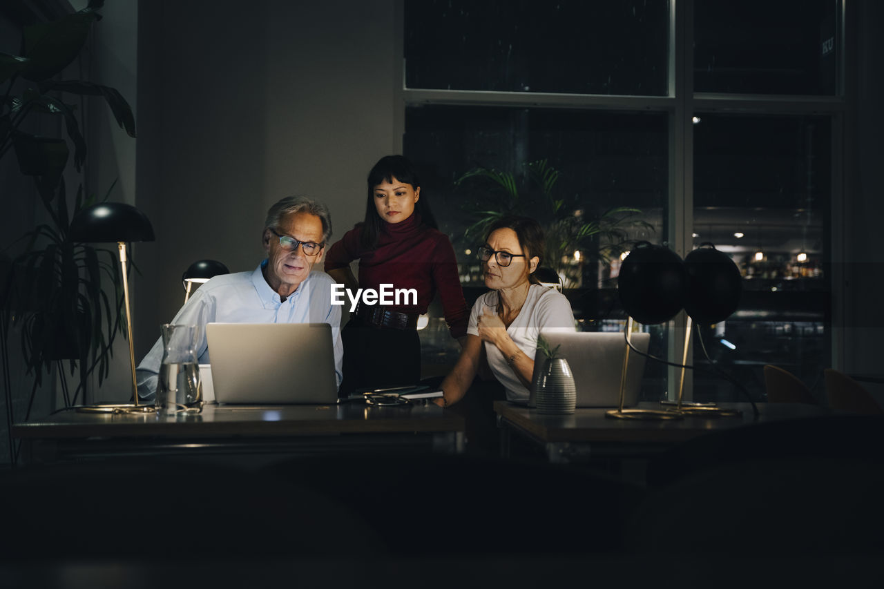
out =
<svg viewBox="0 0 884 589"><path fill-rule="evenodd" d="M267 208L306 194L334 237L362 218L392 134L393 0L144 2L139 14L136 356L183 301L181 273L263 259Z"/></svg>

